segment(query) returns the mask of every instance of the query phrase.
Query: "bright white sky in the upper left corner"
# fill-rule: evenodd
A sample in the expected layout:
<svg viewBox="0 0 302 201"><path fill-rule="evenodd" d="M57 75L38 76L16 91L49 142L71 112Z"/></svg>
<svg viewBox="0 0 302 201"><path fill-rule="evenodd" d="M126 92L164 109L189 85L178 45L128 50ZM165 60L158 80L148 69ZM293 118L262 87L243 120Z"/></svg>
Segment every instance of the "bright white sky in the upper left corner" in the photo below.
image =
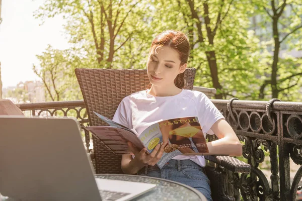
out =
<svg viewBox="0 0 302 201"><path fill-rule="evenodd" d="M0 24L0 62L3 87L16 86L20 81L39 80L33 64L36 55L50 44L54 49L67 49L62 17L41 20L33 16L45 0L2 0L3 19Z"/></svg>

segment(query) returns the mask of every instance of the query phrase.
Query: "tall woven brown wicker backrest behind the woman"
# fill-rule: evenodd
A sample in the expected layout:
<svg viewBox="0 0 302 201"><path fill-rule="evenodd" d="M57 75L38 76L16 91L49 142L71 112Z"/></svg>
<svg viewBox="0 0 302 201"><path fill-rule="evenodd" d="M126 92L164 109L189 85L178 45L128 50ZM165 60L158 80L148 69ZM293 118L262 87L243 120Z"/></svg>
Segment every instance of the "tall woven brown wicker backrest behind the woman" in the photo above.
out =
<svg viewBox="0 0 302 201"><path fill-rule="evenodd" d="M196 69L185 71L186 89L193 88ZM150 88L146 69L75 69L91 126L106 125L93 111L112 119L121 100ZM93 137L96 173L122 173L121 156Z"/></svg>

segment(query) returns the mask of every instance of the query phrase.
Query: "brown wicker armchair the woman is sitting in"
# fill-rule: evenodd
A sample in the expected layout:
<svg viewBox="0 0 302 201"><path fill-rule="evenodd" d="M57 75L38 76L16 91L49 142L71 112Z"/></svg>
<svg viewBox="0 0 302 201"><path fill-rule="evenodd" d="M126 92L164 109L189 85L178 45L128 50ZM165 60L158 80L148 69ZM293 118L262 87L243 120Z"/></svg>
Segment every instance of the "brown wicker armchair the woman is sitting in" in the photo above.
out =
<svg viewBox="0 0 302 201"><path fill-rule="evenodd" d="M193 88L196 69L187 68L185 71L186 89ZM106 125L93 111L110 119L121 100L136 91L150 87L145 69L75 69L80 88L84 97L89 123L91 126ZM101 141L93 137L96 173L123 173L120 162L121 156L115 155ZM250 172L250 165L230 156L207 156L206 159L215 162L218 167L206 167L207 176L211 181L212 197L214 200L235 200L238 188L230 187L227 171ZM220 166L223 168L220 168ZM235 173L238 175L238 173ZM235 176L236 177L236 176ZM238 176L237 176L238 177Z"/></svg>

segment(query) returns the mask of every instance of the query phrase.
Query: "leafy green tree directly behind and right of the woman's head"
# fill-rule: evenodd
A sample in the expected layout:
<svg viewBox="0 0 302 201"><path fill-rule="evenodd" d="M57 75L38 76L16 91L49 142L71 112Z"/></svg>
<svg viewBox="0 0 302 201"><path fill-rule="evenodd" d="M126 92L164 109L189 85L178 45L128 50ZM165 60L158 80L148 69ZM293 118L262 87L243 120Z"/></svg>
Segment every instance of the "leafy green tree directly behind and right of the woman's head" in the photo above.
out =
<svg viewBox="0 0 302 201"><path fill-rule="evenodd" d="M163 27L188 33L189 64L197 68L196 85L216 88L216 98L256 98L260 45L248 30L253 5L246 1L171 0L161 1L155 8L154 18L160 16L157 20Z"/></svg>

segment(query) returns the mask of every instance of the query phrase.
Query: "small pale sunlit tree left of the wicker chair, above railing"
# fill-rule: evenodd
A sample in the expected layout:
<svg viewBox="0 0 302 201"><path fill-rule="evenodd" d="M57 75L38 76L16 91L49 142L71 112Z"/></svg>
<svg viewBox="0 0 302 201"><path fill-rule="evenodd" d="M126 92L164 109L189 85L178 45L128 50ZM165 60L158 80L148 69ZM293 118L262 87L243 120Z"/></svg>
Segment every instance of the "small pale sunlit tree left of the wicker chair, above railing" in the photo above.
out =
<svg viewBox="0 0 302 201"><path fill-rule="evenodd" d="M41 78L46 100L80 99L80 89L74 76L74 68L81 66L81 59L70 56L71 50L56 50L48 45L42 55L37 55L39 67L33 65L34 72ZM78 90L74 90L77 88Z"/></svg>

